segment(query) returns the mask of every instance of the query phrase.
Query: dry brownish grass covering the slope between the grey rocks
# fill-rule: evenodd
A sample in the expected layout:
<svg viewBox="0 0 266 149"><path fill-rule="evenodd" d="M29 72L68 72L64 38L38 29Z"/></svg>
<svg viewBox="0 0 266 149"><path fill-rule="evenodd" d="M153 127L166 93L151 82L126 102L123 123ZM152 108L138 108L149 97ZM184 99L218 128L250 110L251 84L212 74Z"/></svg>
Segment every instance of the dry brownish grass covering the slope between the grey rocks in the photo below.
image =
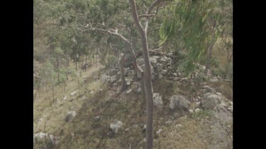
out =
<svg viewBox="0 0 266 149"><path fill-rule="evenodd" d="M53 103L55 115L52 114L50 103L45 92L40 93L40 97L34 104L34 130L38 126L38 119L50 119L46 123L38 126L38 132L53 134L60 137L59 144L55 148L145 148L145 96L143 94L122 93L115 96L107 84L95 81L94 76L99 68L89 68L82 76L87 76L86 83L82 86L82 96L70 97L69 93L77 90L77 84L72 81L67 83L65 92L61 88L55 88L56 98L60 102ZM221 89L225 88L222 83L213 84ZM232 148L232 143L228 133L224 131L224 126L231 124L230 114L214 113L189 114L185 117L174 117L169 110L169 98L172 95L185 95L188 100L192 100L201 91L199 87L189 84L179 84L177 81L160 80L153 83L154 92L162 95L164 105L162 109L155 107L154 112L154 148ZM99 88L103 90L100 92ZM94 90L93 94L89 91ZM222 92L223 94L223 92ZM48 95L51 95L49 92ZM62 98L67 95L67 100ZM65 116L71 107L77 112L72 123L65 122ZM38 110L38 109L41 109ZM99 116L97 121L94 117ZM193 116L193 117L192 117ZM218 117L218 118L217 118ZM123 129L114 136L108 136L109 125L115 120L123 122ZM171 120L170 125L165 121ZM221 123L221 121L223 123ZM135 128L134 125L138 125ZM179 126L181 124L182 126ZM232 125L233 126L233 125ZM125 131L125 129L130 131ZM156 131L163 131L157 135ZM228 131L232 133L231 128ZM74 136L73 136L74 135Z"/></svg>

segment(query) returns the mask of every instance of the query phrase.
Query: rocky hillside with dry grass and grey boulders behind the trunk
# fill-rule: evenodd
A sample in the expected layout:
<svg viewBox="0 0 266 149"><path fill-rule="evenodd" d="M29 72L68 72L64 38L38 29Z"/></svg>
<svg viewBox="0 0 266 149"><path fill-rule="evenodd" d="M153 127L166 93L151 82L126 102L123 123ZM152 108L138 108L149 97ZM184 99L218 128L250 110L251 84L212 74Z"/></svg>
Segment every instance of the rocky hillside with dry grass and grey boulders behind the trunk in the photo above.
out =
<svg viewBox="0 0 266 149"><path fill-rule="evenodd" d="M206 76L205 66L199 64L190 78L184 78L170 56L151 56L150 61L154 148L233 148L231 86L211 72ZM138 64L143 67L143 59ZM35 148L144 148L145 95L133 67L125 72L123 93L118 64L80 76L82 89L69 85L58 93L54 114L49 104L45 107L43 93L34 105ZM38 107L45 107L45 113Z"/></svg>

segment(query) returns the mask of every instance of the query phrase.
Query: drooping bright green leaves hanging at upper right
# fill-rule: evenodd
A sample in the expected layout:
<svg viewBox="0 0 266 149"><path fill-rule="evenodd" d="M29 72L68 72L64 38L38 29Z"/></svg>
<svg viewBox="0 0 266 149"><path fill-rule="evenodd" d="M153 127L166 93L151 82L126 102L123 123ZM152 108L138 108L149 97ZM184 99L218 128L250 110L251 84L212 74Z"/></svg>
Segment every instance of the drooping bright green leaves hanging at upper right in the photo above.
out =
<svg viewBox="0 0 266 149"><path fill-rule="evenodd" d="M209 44L221 35L221 30L215 25L221 19L215 11L216 5L217 1L210 0L180 0L176 6L166 8L166 17L159 30L159 44L162 45L174 35L179 35L182 46L187 50L187 59L183 64L187 75L194 70L194 63L199 61Z"/></svg>

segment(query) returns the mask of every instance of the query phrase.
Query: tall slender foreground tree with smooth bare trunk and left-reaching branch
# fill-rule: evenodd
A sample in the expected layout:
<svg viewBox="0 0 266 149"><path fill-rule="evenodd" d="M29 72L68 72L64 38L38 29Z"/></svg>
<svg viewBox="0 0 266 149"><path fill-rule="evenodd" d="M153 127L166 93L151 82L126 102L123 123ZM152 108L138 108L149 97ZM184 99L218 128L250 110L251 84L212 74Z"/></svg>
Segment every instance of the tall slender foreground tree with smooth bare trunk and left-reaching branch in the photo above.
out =
<svg viewBox="0 0 266 149"><path fill-rule="evenodd" d="M163 0L148 1L148 3L143 3L140 8L140 4L143 1L138 3L138 8L134 0L129 1L129 5L125 1L91 1L89 6L82 5L83 2L72 1L71 4L73 9L76 9L75 6L80 6L77 12L85 13L87 15L77 16L76 25L77 29L82 33L89 32L92 35L98 33L101 38L103 35L113 35L124 42L126 45L125 53L131 53L133 56L133 66L135 71L140 78L143 79L145 87L145 96L147 103L147 129L146 137L147 144L146 148L153 148L153 84L151 79L151 66L149 60L149 50L148 50L148 39L147 39L147 30L148 22L151 16L155 16L156 12L153 11L153 8L158 6L163 2ZM148 8L145 5L150 5ZM128 11L130 6L131 11ZM88 8L88 9L87 9ZM137 11L138 10L138 11ZM98 13L95 13L95 12ZM118 12L119 11L119 12ZM153 11L153 12L152 12ZM138 15L138 13L141 13ZM129 19L129 16L132 16L132 20ZM143 18L145 21L145 26L141 25L140 18ZM125 23L126 22L126 23ZM136 56L134 51L134 45L132 40L133 25L140 34L140 45L142 47L142 55L145 62L145 70L143 71L138 63L136 62ZM118 30L119 28L119 30ZM121 59L123 55L121 54ZM123 68L123 66L121 66ZM122 70L121 70L122 71Z"/></svg>

